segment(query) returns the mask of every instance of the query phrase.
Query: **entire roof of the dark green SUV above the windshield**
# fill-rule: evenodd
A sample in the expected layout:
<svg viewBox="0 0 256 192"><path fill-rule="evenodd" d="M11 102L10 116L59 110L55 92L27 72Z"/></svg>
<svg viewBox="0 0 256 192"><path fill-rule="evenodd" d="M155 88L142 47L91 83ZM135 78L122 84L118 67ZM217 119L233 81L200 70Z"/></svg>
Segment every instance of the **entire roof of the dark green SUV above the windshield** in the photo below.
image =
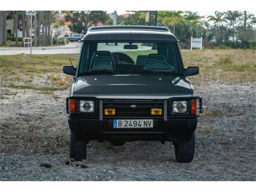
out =
<svg viewBox="0 0 256 192"><path fill-rule="evenodd" d="M84 41L97 42L178 42L179 40L161 26L116 25L93 26L88 29Z"/></svg>

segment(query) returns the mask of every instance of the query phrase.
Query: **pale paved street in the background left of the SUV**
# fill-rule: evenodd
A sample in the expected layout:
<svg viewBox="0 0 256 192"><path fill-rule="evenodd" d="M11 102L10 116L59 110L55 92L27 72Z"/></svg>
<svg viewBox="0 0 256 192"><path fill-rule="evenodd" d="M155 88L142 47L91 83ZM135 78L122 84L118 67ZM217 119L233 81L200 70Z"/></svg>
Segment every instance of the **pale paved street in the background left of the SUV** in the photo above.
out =
<svg viewBox="0 0 256 192"><path fill-rule="evenodd" d="M32 47L32 54L62 54L79 53L80 43L73 42L65 46ZM10 54L30 54L30 48L24 47L0 47L0 56Z"/></svg>

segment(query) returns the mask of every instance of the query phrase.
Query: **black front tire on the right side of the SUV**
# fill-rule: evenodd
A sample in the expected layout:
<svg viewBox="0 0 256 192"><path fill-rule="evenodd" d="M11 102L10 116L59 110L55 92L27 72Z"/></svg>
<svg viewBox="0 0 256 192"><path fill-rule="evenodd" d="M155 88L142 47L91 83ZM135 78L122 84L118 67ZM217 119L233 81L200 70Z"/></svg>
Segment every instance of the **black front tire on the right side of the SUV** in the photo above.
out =
<svg viewBox="0 0 256 192"><path fill-rule="evenodd" d="M174 147L177 162L191 162L195 151L195 133L189 140L174 143Z"/></svg>

